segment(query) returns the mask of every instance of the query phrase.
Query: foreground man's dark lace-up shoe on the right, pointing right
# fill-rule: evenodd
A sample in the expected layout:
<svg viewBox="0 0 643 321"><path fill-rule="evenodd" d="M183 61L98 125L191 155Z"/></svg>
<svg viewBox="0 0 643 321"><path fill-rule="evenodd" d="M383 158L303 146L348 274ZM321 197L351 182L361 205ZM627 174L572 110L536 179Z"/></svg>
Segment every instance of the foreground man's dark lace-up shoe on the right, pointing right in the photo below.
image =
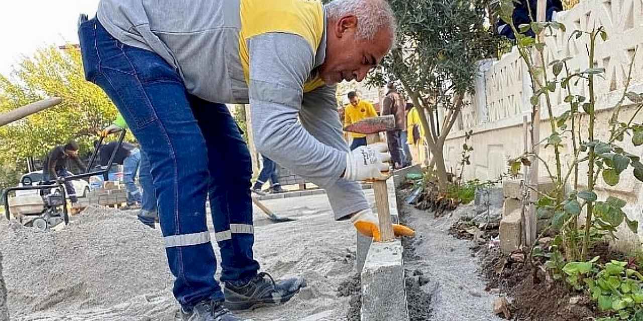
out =
<svg viewBox="0 0 643 321"><path fill-rule="evenodd" d="M226 282L223 294L226 296L224 306L231 310L246 310L282 304L290 300L306 286L303 277L293 277L282 281L275 280L266 272L258 273L248 283L236 286Z"/></svg>

